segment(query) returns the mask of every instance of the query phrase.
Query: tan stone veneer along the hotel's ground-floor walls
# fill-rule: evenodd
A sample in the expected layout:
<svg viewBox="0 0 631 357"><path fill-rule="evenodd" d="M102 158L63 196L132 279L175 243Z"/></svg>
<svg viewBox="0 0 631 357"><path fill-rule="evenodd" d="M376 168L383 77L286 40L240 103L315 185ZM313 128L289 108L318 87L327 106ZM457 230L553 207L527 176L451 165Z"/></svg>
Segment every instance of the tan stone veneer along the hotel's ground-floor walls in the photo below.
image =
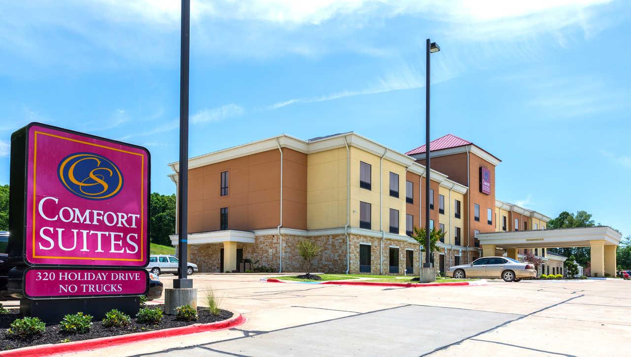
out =
<svg viewBox="0 0 631 357"><path fill-rule="evenodd" d="M283 235L283 272L304 272L306 263L298 255L298 242L302 239L314 240L322 247L320 255L312 260L311 270L313 272L343 273L346 272L346 236L345 235L324 235L317 237L302 237L299 235ZM243 249L244 259L251 259L258 266L271 267L274 271L279 269L278 235L264 235L254 238L255 243L239 243L237 249ZM389 273L389 248L399 248L399 272L392 274L404 274L406 267L406 250L413 250L413 275L418 276L419 246L416 243L404 240L394 240L384 238L382 246L382 269L379 269L379 249L381 238L369 237L365 235L350 234L350 273L359 274L359 252L360 243L370 243L371 267L370 274L390 274ZM223 243L212 243L203 245L189 245L191 262L198 264L199 272L220 272L220 249ZM444 252L444 249L440 249ZM454 255L459 250L451 250L447 247L445 257L445 269L454 265ZM467 264L478 258L477 252L469 252L471 257L467 259L467 252L463 250L460 264ZM425 254L422 254L423 263ZM439 269L439 252L434 252L434 266Z"/></svg>

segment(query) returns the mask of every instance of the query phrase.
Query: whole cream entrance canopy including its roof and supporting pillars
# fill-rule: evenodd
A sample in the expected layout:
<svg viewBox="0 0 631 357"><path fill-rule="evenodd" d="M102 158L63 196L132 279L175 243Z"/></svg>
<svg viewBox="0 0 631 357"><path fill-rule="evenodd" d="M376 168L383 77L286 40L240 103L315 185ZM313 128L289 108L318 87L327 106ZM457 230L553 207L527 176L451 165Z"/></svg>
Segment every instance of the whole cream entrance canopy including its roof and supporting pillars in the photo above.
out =
<svg viewBox="0 0 631 357"><path fill-rule="evenodd" d="M590 247L591 274L603 278L616 275L616 247L622 235L608 226L560 228L556 230L478 233L482 254L495 255L502 248L517 259L517 249Z"/></svg>

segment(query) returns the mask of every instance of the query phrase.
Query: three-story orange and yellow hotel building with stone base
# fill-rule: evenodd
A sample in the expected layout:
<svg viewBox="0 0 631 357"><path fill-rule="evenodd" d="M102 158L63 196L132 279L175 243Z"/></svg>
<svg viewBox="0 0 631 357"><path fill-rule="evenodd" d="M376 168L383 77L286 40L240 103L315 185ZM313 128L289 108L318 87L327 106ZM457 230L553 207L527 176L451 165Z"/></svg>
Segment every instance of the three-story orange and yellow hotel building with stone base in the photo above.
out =
<svg viewBox="0 0 631 357"><path fill-rule="evenodd" d="M322 247L313 271L417 275L424 254L410 235L427 219L445 232L433 254L440 271L505 254L480 249L478 233L545 229L548 217L495 199L497 157L452 135L430 148L428 218L425 146L399 153L355 132L283 134L191 158L189 259L202 272L253 269L244 260L304 271L297 245L309 239ZM179 165L170 167L177 185Z"/></svg>

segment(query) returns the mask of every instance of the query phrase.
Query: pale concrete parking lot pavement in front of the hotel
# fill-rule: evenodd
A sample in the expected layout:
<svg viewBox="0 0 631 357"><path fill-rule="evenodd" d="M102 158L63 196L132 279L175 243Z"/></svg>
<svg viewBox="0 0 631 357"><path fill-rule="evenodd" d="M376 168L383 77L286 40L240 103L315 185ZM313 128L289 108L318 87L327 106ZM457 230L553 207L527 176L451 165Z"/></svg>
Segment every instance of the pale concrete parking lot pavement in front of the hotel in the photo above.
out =
<svg viewBox="0 0 631 357"><path fill-rule="evenodd" d="M389 288L262 283L262 277L192 276L199 305L212 288L223 308L247 317L240 327L97 354L604 356L626 351L631 333L631 283L622 280ZM172 276L160 278L171 286Z"/></svg>

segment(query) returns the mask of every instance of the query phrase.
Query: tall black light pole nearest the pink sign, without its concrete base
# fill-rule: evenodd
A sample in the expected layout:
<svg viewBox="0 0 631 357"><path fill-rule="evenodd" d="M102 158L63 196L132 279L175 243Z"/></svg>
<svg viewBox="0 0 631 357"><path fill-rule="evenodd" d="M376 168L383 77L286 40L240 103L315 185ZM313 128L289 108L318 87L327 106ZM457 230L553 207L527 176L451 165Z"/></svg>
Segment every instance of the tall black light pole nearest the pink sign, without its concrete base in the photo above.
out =
<svg viewBox="0 0 631 357"><path fill-rule="evenodd" d="M177 238L179 252L179 279L174 288L192 288L187 279L187 223L189 196L189 31L191 1L182 0L182 28L180 30L180 171L177 174Z"/></svg>

